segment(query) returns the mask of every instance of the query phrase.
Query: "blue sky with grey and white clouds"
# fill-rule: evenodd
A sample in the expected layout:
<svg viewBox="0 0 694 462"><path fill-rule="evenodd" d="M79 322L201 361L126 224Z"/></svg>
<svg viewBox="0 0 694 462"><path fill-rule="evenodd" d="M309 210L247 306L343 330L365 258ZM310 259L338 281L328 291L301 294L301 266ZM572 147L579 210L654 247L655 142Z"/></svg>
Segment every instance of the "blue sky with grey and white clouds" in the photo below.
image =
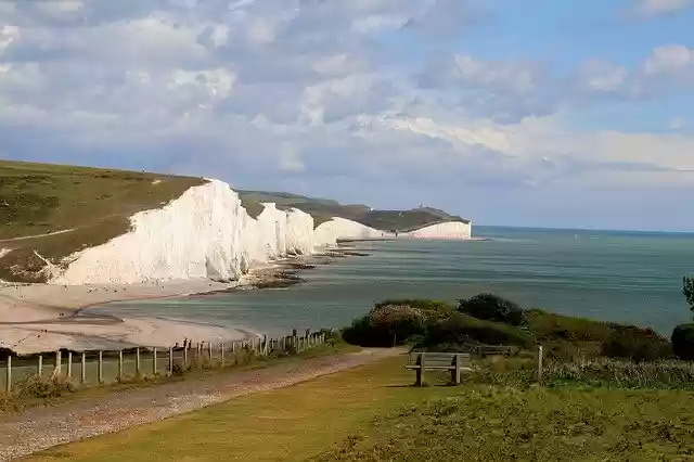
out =
<svg viewBox="0 0 694 462"><path fill-rule="evenodd" d="M694 0L0 0L0 157L694 231Z"/></svg>

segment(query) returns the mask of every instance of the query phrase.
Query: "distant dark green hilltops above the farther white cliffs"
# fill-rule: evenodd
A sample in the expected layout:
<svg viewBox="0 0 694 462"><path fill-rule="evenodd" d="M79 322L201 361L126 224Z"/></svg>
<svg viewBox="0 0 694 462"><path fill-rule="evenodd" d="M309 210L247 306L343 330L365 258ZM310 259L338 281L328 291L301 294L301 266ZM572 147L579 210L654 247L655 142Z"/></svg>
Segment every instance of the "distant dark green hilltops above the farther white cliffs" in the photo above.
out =
<svg viewBox="0 0 694 462"><path fill-rule="evenodd" d="M411 210L372 210L367 205L344 205L337 201L282 192L239 191L239 194L243 200L274 202L278 207L284 209L298 208L310 214L318 223L327 221L333 217L340 217L377 230L409 232L448 221L470 222L470 220L432 207L413 208Z"/></svg>

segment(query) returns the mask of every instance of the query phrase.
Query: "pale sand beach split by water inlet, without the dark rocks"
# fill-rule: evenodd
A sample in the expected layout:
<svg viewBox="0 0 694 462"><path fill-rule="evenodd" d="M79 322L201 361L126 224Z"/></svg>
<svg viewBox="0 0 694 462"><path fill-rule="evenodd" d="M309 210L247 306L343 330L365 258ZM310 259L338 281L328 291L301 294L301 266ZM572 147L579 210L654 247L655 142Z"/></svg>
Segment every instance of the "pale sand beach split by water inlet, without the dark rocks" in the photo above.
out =
<svg viewBox="0 0 694 462"><path fill-rule="evenodd" d="M76 351L129 346L168 347L194 341L239 341L250 332L157 318L86 316L81 308L111 301L141 300L226 291L241 282L210 280L132 285L2 284L0 348L26 355L69 348Z"/></svg>

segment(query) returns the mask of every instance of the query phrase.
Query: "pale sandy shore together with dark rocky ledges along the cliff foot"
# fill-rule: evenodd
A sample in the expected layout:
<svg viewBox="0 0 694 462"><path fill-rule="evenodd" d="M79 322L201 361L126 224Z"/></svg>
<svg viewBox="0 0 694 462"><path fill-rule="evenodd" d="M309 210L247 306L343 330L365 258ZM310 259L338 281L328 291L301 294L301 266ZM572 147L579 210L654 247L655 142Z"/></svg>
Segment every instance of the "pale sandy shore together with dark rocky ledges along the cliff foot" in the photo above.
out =
<svg viewBox="0 0 694 462"><path fill-rule="evenodd" d="M365 256L351 246L321 248L259 265L236 281L208 279L153 281L121 285L0 285L0 349L17 355L69 349L168 347L184 338L216 342L246 341L259 333L157 317L117 317L85 310L118 301L163 300L214 296L243 290L279 288L304 282L298 271L330 265L337 258Z"/></svg>

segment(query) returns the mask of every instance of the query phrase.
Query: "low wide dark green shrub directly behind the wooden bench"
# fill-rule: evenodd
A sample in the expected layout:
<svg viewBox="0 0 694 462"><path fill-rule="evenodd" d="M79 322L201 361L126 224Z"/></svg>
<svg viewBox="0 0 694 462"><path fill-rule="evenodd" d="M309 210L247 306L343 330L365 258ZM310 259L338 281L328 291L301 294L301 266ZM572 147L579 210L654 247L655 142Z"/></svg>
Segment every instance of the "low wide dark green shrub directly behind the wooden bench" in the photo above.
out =
<svg viewBox="0 0 694 462"><path fill-rule="evenodd" d="M509 324L484 321L459 313L453 318L429 324L426 346L444 344L518 345L532 344L532 337Z"/></svg>

